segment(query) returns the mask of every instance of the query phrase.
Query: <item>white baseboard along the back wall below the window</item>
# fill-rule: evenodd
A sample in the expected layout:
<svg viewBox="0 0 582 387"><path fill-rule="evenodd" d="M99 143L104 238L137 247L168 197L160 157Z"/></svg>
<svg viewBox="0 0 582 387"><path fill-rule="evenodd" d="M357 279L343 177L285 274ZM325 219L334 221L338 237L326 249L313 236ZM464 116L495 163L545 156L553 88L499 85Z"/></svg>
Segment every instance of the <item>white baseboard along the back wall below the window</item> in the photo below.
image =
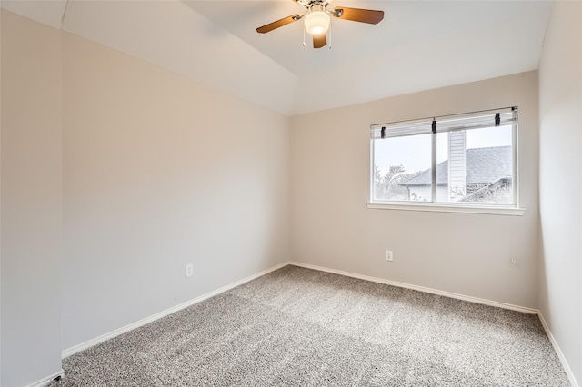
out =
<svg viewBox="0 0 582 387"><path fill-rule="evenodd" d="M537 309L526 308L524 306L513 305L511 303L499 303L497 301L491 301L491 300L486 300L483 298L471 297L471 296L463 295L463 294L440 291L437 289L426 288L424 286L417 286L417 285L413 285L410 283L398 283L396 281L385 280L383 278L376 278L376 277L370 277L368 275L343 272L341 270L329 269L326 267L316 266L316 265L307 264L307 263L298 263L298 262L292 261L289 264L292 264L294 266L299 266L299 267L305 267L306 269L318 270L320 272L345 275L346 277L352 277L352 278L357 278L360 280L371 281L373 283L384 283L386 285L397 286L399 288L406 288L406 289L416 290L416 291L424 292L424 293L432 293L432 294L442 295L444 297L455 298L457 300L468 301L470 303L482 303L484 305L497 306L497 308L509 309L512 311L529 313L529 314L538 314L539 313L539 311Z"/></svg>

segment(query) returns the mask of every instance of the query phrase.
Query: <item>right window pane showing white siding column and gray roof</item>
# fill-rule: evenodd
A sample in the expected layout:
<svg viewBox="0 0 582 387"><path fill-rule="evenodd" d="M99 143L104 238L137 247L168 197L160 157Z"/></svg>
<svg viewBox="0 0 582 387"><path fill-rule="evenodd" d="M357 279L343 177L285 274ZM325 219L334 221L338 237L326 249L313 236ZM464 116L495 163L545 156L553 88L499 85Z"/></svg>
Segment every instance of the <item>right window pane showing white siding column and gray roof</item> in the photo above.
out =
<svg viewBox="0 0 582 387"><path fill-rule="evenodd" d="M511 125L437 135L437 202L513 203Z"/></svg>

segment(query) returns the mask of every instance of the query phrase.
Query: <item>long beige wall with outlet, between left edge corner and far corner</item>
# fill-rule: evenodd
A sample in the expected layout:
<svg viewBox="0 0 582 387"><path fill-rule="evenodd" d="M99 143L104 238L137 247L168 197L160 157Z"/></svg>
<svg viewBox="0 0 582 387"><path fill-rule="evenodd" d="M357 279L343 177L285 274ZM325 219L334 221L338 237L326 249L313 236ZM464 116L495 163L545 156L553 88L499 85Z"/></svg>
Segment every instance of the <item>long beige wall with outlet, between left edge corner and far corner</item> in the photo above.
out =
<svg viewBox="0 0 582 387"><path fill-rule="evenodd" d="M286 116L63 44L63 349L289 260Z"/></svg>

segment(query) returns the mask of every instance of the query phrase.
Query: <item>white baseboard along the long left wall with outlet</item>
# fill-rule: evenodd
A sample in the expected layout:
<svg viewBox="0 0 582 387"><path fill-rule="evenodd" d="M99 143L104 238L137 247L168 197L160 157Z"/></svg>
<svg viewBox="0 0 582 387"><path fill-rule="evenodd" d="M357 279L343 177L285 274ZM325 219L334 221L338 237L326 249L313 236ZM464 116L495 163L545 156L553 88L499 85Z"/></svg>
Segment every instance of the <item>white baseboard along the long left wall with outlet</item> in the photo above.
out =
<svg viewBox="0 0 582 387"><path fill-rule="evenodd" d="M151 316L148 316L144 319L136 321L135 323L130 323L128 325L125 325L124 327L115 329L115 331L102 334L101 336L95 337L95 339L91 339L91 340L88 340L86 342L81 342L80 344L77 344L71 348L67 348L67 349L63 350L63 352L61 352L61 357L63 359L65 359L66 357L69 357L69 356L75 354L76 352L84 351L88 348L91 348L91 347L101 343L101 342L105 342L109 339L113 339L115 336L119 336L120 334L123 334L125 332L133 331L135 328L139 328L140 326L146 325L147 323L153 323L156 320L161 319L162 317L166 317L169 314L181 311L182 309L185 309L188 306L194 305L195 303L200 303L200 302L202 302L210 297L214 297L217 294L225 293L226 291L229 291L233 288L236 288L236 286L242 285L243 283L248 283L249 281L253 281L254 279L256 279L260 276L263 276L266 273L274 272L282 267L285 267L288 264L289 264L288 261L285 263L277 264L276 266L273 266L273 267L266 269L262 272L250 275L246 278L243 278L242 280L236 281L235 283L230 283L226 286L221 287L220 289L216 289L215 291L212 291L210 293L200 295L200 296L198 296L190 301L186 301L185 303L179 303L176 306L173 306L169 309L166 309L165 311L162 311L162 312L156 313L156 314L152 314Z"/></svg>

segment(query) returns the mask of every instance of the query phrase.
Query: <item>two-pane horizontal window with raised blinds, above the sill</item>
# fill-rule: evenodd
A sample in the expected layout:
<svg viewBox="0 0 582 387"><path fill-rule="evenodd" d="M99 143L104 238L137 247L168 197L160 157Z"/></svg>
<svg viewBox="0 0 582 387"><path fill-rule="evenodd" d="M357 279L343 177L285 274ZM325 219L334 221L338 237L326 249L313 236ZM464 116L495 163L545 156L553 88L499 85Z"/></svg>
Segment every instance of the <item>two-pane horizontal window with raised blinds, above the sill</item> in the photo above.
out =
<svg viewBox="0 0 582 387"><path fill-rule="evenodd" d="M371 204L517 208L517 107L376 124L370 134Z"/></svg>

